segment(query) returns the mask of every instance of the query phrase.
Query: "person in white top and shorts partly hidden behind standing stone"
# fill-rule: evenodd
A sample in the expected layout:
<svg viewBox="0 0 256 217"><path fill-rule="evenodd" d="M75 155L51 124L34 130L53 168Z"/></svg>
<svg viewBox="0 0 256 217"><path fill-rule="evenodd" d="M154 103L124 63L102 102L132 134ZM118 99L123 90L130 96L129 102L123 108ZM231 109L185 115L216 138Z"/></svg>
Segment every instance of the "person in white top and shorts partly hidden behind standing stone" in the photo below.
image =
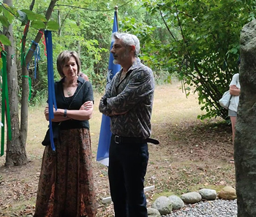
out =
<svg viewBox="0 0 256 217"><path fill-rule="evenodd" d="M238 61L238 68L240 66L240 61ZM239 73L233 75L233 78L230 83L230 95L232 95L230 99L230 105L228 107L228 116L230 116L230 121L232 125L232 138L233 144L235 139L235 125L236 125L236 116L237 116L237 108L239 102L239 94L240 94L240 83L239 83Z"/></svg>

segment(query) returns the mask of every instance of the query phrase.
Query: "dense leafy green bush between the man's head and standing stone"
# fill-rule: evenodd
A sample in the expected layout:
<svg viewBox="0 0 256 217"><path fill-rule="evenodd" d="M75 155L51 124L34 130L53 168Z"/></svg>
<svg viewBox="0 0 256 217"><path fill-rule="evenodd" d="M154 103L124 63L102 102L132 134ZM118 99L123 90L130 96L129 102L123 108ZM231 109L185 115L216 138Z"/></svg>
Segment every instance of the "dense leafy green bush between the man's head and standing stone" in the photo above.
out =
<svg viewBox="0 0 256 217"><path fill-rule="evenodd" d="M255 5L255 1L143 0L151 19L131 19L124 25L140 36L147 64L177 73L185 86L195 87L201 110L206 111L199 118L226 118L227 110L218 101L238 72L240 31L255 18Z"/></svg>

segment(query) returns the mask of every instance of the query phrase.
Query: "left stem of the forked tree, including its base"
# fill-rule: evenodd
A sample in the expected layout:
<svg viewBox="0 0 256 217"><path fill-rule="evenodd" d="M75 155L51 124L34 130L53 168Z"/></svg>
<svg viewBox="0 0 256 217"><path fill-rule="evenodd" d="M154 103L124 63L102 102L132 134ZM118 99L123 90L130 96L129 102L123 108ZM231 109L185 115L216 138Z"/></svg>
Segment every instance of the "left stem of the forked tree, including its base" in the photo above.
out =
<svg viewBox="0 0 256 217"><path fill-rule="evenodd" d="M12 6L12 0L4 0L5 4ZM20 136L20 121L18 115L18 75L15 61L15 46L12 32L12 25L4 27L3 34L11 42L10 46L5 46L7 52L7 82L10 99L10 119L12 128L12 140L7 137L6 166L23 165L27 162L25 144ZM13 59L12 59L13 58Z"/></svg>

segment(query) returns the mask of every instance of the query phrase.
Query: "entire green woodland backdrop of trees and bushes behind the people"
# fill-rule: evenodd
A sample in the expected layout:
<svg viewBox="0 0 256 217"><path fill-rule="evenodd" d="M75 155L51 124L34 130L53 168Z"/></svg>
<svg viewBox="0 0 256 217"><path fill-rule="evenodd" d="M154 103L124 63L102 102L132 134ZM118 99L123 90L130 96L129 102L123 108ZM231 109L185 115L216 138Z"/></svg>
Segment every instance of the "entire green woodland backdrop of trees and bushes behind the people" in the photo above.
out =
<svg viewBox="0 0 256 217"><path fill-rule="evenodd" d="M13 1L12 4L14 9L26 9L23 12L28 13L31 1ZM44 16L48 4L50 1L34 1L33 12ZM118 6L119 31L139 37L140 58L154 70L157 82L170 83L171 75L176 75L183 81L187 95L191 86L195 86L201 109L206 111L200 118L226 118L226 110L219 107L218 100L238 71L240 31L245 23L255 18L255 4L255 1L238 0L56 1L50 17L50 21L58 23L53 31L53 60L62 50L78 51L83 72L89 76L94 90L103 91L113 11ZM1 9L1 17L6 16L3 5ZM3 23L4 19L0 20ZM20 40L25 23L22 16L12 21L20 97ZM41 27L37 22L32 24L34 28L29 28L26 51ZM30 105L45 101L47 97L47 63L42 40L39 47L41 59L37 64L37 78L33 75L34 58L29 64ZM56 68L55 77L59 79Z"/></svg>

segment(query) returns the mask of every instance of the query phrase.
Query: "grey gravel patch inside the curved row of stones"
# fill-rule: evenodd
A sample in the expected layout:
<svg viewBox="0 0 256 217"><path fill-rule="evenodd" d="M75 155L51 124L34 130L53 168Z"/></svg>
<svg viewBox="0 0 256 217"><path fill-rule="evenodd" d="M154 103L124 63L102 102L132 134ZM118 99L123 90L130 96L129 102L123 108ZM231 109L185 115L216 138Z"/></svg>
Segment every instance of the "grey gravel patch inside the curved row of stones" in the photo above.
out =
<svg viewBox="0 0 256 217"><path fill-rule="evenodd" d="M216 199L213 201L198 202L186 205L181 210L162 217L236 217L237 204L234 200Z"/></svg>

